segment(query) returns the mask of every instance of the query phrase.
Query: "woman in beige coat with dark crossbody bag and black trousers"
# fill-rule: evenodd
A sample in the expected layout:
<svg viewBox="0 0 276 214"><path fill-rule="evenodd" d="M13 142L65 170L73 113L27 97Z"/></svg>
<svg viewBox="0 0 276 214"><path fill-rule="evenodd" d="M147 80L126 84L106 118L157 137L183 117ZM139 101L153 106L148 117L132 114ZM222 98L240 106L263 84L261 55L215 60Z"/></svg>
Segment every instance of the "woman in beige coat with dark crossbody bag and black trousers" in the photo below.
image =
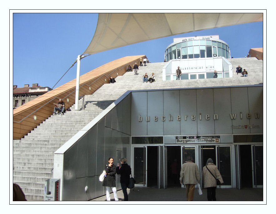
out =
<svg viewBox="0 0 276 214"><path fill-rule="evenodd" d="M219 179L220 183L223 183L222 177L219 173L219 170L216 165L214 165L214 162L211 158L209 158L206 162L206 166L203 167L202 170L202 181L204 183L204 188L207 188L207 199L208 201L216 201L216 188L217 188L217 181L212 176L212 174L208 171L208 169L211 171L211 173Z"/></svg>

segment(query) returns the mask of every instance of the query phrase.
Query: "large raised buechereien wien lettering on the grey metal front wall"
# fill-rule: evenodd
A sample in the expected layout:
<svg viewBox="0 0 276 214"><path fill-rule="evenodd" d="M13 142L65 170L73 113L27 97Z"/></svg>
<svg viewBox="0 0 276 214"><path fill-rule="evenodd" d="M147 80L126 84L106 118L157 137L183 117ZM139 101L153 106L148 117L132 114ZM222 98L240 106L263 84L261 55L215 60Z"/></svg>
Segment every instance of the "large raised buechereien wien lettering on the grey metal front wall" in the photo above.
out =
<svg viewBox="0 0 276 214"><path fill-rule="evenodd" d="M231 120L235 120L237 118L237 114L229 114L230 115L230 118ZM219 115L217 114L214 114L214 115L211 115L211 116L214 116L214 120L219 120ZM212 119L210 115L202 115L201 113L199 114L199 120L210 120ZM162 115L160 116L161 117L161 120L164 122L165 120L169 120L169 121L173 121L174 120L174 116L169 114L167 117L165 115ZM159 118L160 118L159 117ZM150 116L146 116L146 122L150 122ZM153 121L157 122L158 121L158 116L153 116ZM181 120L181 116L180 115L177 115L176 117L176 120L177 121L180 121ZM196 120L196 115L185 115L184 116L184 120L188 120L188 118L190 120ZM239 118L240 119L243 119L243 114L242 112L240 112L239 114ZM246 118L247 119L251 119L252 118L252 115L250 113L247 113L246 114ZM259 119L260 118L260 115L259 113L255 113L255 119ZM138 116L138 122L142 122L143 121L143 117L141 115Z"/></svg>

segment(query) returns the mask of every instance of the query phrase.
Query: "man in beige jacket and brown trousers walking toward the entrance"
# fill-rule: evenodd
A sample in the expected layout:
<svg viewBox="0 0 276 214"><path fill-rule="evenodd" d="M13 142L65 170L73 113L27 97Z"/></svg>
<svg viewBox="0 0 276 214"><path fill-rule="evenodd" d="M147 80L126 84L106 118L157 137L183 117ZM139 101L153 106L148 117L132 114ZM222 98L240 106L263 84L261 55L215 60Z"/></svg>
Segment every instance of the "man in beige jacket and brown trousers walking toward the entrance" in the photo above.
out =
<svg viewBox="0 0 276 214"><path fill-rule="evenodd" d="M198 166L192 160L192 157L188 156L180 171L180 183L186 186L187 201L193 201L195 185L200 182Z"/></svg>

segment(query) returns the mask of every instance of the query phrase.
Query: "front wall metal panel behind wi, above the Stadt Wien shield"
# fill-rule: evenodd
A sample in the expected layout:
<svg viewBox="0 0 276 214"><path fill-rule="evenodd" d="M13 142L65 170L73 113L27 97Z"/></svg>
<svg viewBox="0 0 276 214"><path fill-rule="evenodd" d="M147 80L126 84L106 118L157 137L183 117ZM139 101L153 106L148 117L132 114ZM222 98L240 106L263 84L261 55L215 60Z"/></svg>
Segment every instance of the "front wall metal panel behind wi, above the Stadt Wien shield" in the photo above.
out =
<svg viewBox="0 0 276 214"><path fill-rule="evenodd" d="M249 127L245 128L245 125L249 125L249 119L246 117L246 114L249 113L247 87L231 88L230 91L232 114L236 115L236 119L232 120L233 134L250 133Z"/></svg>

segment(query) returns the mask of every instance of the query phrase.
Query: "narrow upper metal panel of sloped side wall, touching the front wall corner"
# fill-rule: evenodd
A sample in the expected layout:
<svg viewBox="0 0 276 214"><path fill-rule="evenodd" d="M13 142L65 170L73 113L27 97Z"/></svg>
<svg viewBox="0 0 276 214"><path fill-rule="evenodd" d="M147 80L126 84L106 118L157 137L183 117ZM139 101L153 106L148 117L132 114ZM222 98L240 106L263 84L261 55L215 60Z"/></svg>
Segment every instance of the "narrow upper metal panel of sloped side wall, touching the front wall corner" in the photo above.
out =
<svg viewBox="0 0 276 214"><path fill-rule="evenodd" d="M131 93L122 100L123 102L123 131L126 134L130 134L131 131Z"/></svg>

